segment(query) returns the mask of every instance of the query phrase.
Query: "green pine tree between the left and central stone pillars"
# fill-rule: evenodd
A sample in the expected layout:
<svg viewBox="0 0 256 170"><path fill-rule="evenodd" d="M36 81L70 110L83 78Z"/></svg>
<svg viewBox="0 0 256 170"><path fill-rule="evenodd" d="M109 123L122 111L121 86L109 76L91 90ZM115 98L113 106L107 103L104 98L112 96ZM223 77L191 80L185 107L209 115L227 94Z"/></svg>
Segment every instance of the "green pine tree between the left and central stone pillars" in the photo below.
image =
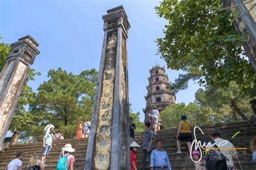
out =
<svg viewBox="0 0 256 170"><path fill-rule="evenodd" d="M40 128L32 129L27 135L38 136L43 127L51 123L64 131L65 138L72 138L76 135L78 121L91 117L97 71L84 70L74 75L58 68L51 69L48 77L50 79L39 86L35 101L30 104L33 115L43 116L37 123Z"/></svg>

